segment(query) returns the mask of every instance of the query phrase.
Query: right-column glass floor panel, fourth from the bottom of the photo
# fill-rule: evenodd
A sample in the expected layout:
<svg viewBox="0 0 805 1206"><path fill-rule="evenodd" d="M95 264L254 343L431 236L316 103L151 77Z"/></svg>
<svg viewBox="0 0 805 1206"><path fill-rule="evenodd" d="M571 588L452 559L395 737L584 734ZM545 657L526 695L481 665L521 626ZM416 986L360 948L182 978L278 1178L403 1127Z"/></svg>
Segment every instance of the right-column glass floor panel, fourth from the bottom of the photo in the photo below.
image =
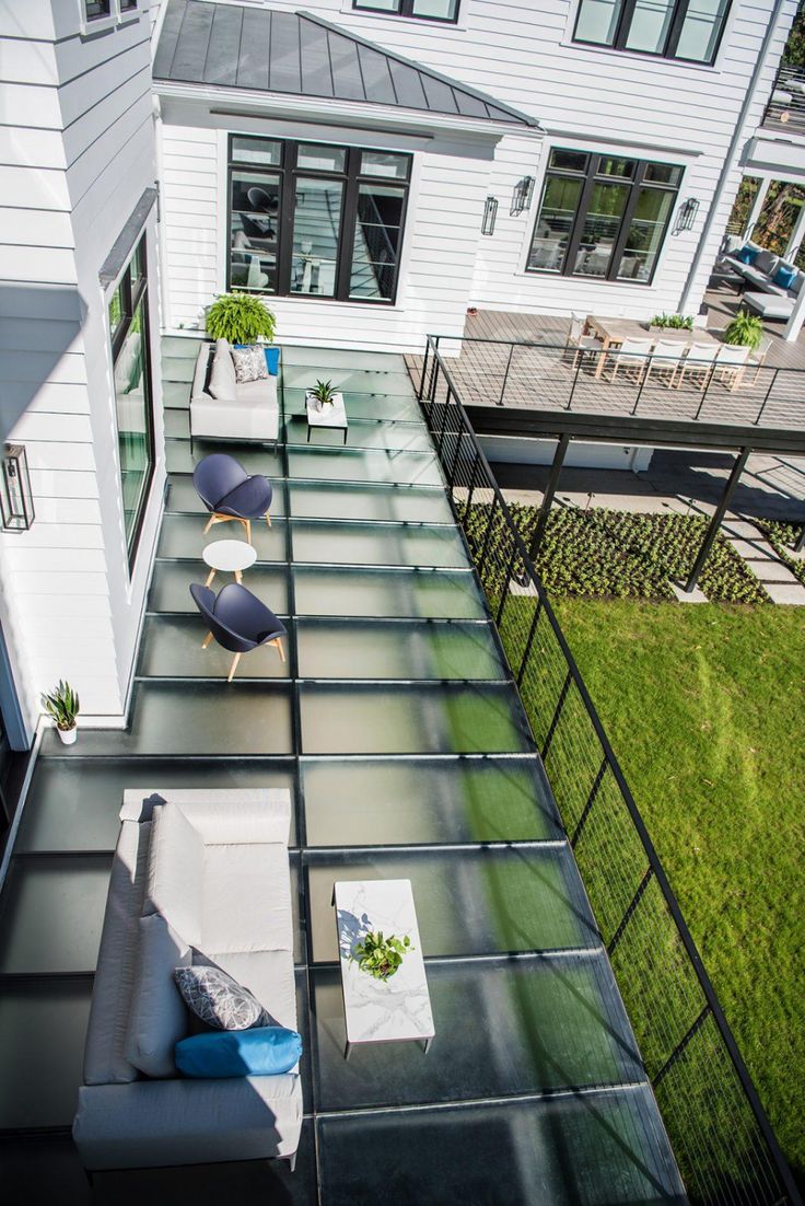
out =
<svg viewBox="0 0 805 1206"><path fill-rule="evenodd" d="M302 761L301 788L311 847L562 837L536 759Z"/></svg>

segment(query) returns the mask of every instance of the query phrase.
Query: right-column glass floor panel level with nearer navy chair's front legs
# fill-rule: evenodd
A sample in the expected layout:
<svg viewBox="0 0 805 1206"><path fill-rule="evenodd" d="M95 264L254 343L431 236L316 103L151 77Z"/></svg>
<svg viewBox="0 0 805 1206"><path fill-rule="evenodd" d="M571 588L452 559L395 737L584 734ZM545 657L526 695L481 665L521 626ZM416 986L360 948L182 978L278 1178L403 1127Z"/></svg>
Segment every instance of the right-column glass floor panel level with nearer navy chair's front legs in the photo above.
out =
<svg viewBox="0 0 805 1206"><path fill-rule="evenodd" d="M296 621L301 678L503 679L487 624Z"/></svg>

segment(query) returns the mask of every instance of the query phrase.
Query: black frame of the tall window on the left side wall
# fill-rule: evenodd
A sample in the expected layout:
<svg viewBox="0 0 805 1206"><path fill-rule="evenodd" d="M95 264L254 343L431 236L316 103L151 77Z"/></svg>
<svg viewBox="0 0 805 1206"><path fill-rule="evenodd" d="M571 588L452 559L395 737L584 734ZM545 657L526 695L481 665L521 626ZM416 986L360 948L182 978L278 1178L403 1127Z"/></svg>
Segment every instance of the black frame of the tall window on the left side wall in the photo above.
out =
<svg viewBox="0 0 805 1206"><path fill-rule="evenodd" d="M136 280L133 280L133 268L134 265L139 268L139 275ZM110 302L112 297L119 291L121 293L121 321L118 322L114 332L111 333L111 349L112 349L112 396L114 398L114 426L118 429L119 439L119 427L117 417L117 388L114 385L114 369L117 365L117 358L125 346L125 338L129 334L131 322L137 311L137 306L142 304L142 358L145 364L145 417L146 417L146 446L148 450L148 468L146 470L146 476L142 484L142 491L140 494L137 515L134 521L131 532L128 534L128 556L129 556L129 575L134 569L135 561L137 558L137 550L140 548L140 537L142 534L142 525L146 517L146 510L148 509L148 498L151 496L151 486L154 480L155 461L157 461L157 445L154 440L154 390L153 390L153 370L151 363L151 326L148 316L148 248L146 232L143 230L137 239L131 254L129 256L128 263L123 269L123 273L114 286L112 294L110 295ZM111 329L111 322L110 322ZM118 476L121 476L118 472ZM121 498L123 498L123 481L121 478Z"/></svg>

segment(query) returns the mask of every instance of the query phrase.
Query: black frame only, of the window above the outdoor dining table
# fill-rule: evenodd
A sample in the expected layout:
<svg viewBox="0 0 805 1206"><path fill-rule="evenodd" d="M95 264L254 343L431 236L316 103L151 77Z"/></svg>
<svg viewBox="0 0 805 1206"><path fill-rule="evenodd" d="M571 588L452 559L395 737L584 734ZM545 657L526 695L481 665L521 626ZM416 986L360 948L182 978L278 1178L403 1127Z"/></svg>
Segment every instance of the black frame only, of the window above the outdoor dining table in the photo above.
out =
<svg viewBox="0 0 805 1206"><path fill-rule="evenodd" d="M564 168L551 166L551 157L553 152L560 152L565 154L578 154L586 157L586 165L583 171L571 171ZM674 211L676 209L676 203L680 197L682 188L682 180L684 177L684 168L678 163L669 163L665 159L639 159L636 156L623 154L621 151L580 151L577 147L551 147L547 152L548 160L547 168L545 170L545 176L542 178L542 191L540 193L540 204L536 210L536 217L534 218L534 226L531 227L531 238L528 244L528 254L525 260L525 271L534 273L540 276L563 276L570 277L577 281L600 281L609 285L631 285L639 286L641 288L648 288L653 281L657 273L657 264L659 263L660 254L665 247L665 240L668 238L668 232L671 226L674 217ZM603 172L601 165L609 159L622 159L628 163L634 163L635 169L630 176L616 176L612 174ZM678 178L676 183L671 185L666 181L652 181L646 180L646 171L650 168L672 168L678 171ZM576 212L574 215L570 234L568 236L568 244L564 250L564 257L562 262L562 268L530 268L528 260L531 256L531 248L534 247L534 239L536 238L536 230L542 213L542 205L545 201L545 193L548 186L548 181L552 177L558 177L560 180L582 180L581 192L578 194L578 204L576 206ZM576 256L581 245L582 234L584 230L584 222L587 221L587 212L589 210L589 203L593 195L593 189L595 185L601 183L622 183L629 188L629 195L627 198L627 204L621 217L621 224L618 227L618 233L612 244L612 254L610 257L610 264L607 271L604 276L592 273L577 273L574 271L572 265L576 262ZM629 238L629 230L631 229L631 222L635 216L635 210L637 206L637 200L640 198L640 192L644 188L653 188L658 192L672 193L674 200L668 211L668 217L665 218L665 224L663 227L663 235L659 242L659 248L654 257L654 263L652 264L651 275L646 281L639 281L634 277L618 277L618 270L623 259L623 253L625 251L627 239Z"/></svg>

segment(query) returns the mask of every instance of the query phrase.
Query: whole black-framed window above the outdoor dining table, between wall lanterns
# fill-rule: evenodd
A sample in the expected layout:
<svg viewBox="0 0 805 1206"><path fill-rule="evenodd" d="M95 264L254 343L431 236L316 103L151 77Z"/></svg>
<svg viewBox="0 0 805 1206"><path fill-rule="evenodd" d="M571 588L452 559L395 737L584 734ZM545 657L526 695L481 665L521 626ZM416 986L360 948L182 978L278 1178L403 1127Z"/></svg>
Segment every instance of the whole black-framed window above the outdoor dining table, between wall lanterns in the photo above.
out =
<svg viewBox="0 0 805 1206"><path fill-rule="evenodd" d="M554 147L527 271L651 285L682 169Z"/></svg>

